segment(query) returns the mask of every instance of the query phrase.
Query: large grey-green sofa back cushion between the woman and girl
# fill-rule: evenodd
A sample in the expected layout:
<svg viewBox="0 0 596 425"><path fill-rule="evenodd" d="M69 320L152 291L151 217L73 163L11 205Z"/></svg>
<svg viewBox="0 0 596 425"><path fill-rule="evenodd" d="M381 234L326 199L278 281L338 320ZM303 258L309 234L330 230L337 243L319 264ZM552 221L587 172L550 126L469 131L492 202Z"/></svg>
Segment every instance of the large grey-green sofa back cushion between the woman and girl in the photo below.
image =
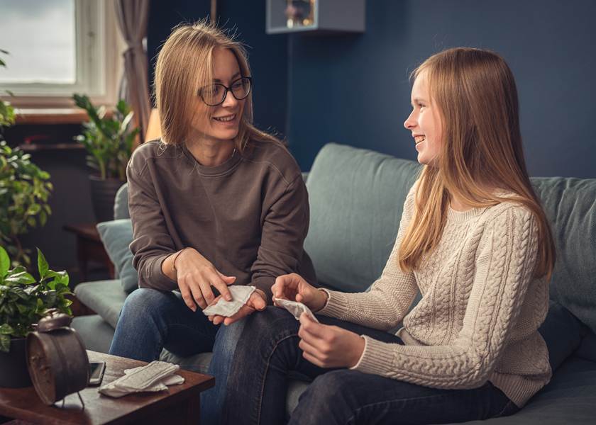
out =
<svg viewBox="0 0 596 425"><path fill-rule="evenodd" d="M304 249L321 285L360 292L380 276L391 254L419 164L330 143L314 159L307 188Z"/></svg>

